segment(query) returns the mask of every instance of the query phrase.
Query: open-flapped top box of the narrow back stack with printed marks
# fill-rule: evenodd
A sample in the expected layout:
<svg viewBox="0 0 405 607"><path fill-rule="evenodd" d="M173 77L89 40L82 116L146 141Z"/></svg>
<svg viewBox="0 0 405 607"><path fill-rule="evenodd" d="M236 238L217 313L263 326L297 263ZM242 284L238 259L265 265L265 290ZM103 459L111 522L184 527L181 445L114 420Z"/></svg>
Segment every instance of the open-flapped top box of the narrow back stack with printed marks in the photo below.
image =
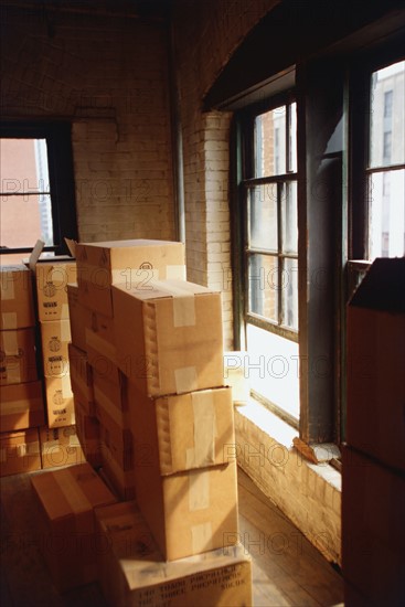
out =
<svg viewBox="0 0 405 607"><path fill-rule="evenodd" d="M75 260L52 259L35 265L38 315L41 322L68 319L70 283L77 283Z"/></svg>

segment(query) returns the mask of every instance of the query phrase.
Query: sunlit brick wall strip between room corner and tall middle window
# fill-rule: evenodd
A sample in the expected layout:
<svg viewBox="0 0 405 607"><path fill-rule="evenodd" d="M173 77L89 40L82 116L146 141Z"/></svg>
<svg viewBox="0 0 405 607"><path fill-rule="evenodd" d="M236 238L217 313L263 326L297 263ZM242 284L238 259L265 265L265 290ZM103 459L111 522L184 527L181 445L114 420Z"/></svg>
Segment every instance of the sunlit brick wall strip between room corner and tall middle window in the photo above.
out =
<svg viewBox="0 0 405 607"><path fill-rule="evenodd" d="M188 278L221 288L225 347L232 349L228 221L231 114L202 113L205 93L275 0L175 0L173 28L183 128Z"/></svg>

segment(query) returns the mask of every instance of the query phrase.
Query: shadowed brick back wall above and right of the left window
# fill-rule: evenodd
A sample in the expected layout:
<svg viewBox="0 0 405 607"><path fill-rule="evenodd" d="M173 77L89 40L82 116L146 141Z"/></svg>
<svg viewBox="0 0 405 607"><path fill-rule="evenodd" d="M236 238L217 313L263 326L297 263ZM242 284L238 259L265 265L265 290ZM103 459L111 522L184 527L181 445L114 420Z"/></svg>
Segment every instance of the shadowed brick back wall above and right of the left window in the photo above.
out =
<svg viewBox="0 0 405 607"><path fill-rule="evenodd" d="M167 24L41 8L2 21L2 117L73 120L79 238L174 238Z"/></svg>

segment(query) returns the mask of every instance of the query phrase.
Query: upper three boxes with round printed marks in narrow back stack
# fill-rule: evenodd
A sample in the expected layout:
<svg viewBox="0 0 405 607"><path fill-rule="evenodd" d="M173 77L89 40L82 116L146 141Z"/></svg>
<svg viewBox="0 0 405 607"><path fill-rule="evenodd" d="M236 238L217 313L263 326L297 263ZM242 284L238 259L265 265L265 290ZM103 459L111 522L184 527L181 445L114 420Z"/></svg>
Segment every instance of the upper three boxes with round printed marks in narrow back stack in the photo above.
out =
<svg viewBox="0 0 405 607"><path fill-rule="evenodd" d="M66 427L75 424L67 352L71 341L67 284L76 281L76 263L73 259L39 260L34 274L47 426Z"/></svg>

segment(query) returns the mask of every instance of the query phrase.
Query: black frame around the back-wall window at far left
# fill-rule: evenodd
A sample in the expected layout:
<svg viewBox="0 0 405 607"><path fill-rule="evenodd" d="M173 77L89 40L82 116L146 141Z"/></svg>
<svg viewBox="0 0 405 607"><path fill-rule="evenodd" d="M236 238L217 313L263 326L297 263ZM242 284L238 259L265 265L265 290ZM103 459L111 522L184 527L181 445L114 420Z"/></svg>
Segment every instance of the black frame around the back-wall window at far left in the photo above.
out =
<svg viewBox="0 0 405 607"><path fill-rule="evenodd" d="M2 121L1 139L45 139L50 178L50 198L52 209L52 246L43 251L55 255L67 255L64 238L77 241L77 219L72 152L72 126L66 121ZM32 247L10 247L0 249L4 263L7 255L31 253Z"/></svg>

